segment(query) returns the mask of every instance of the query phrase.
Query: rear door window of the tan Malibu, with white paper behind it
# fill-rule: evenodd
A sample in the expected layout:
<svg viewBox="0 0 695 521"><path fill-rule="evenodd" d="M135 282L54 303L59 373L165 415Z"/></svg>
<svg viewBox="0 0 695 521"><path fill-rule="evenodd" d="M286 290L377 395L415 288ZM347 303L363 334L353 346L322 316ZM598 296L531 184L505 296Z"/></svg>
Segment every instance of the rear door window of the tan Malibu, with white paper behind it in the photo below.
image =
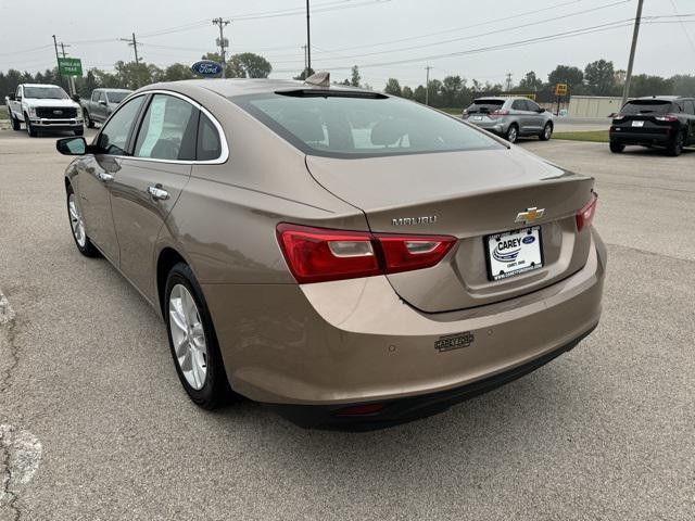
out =
<svg viewBox="0 0 695 521"><path fill-rule="evenodd" d="M142 118L136 157L168 161L195 158L198 109L167 94L154 94Z"/></svg>

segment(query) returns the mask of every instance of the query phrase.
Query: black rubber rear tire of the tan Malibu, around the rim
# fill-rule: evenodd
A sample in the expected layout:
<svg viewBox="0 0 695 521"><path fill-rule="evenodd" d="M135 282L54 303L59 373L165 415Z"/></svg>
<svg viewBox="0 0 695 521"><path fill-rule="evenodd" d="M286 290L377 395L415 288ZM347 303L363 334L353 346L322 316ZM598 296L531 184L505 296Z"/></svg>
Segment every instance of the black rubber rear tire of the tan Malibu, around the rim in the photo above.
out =
<svg viewBox="0 0 695 521"><path fill-rule="evenodd" d="M203 327L205 334L205 344L207 350L206 373L203 385L200 390L193 389L184 376L184 371L178 363L176 356L176 350L174 347L174 341L172 339L172 316L169 313L169 297L172 290L182 284L188 292L193 296L195 306L198 307L198 316ZM186 263L178 263L175 265L166 279L166 289L164 291L164 303L162 304L164 320L166 321L166 334L169 341L169 351L172 352L172 358L174 360L174 367L176 373L184 385L184 389L188 393L191 401L199 407L207 410L216 409L227 404L233 396L229 381L227 380L227 372L225 371L225 365L219 353L219 344L217 343L217 334L213 326L210 310L207 309L207 303L203 292L195 280L193 271Z"/></svg>

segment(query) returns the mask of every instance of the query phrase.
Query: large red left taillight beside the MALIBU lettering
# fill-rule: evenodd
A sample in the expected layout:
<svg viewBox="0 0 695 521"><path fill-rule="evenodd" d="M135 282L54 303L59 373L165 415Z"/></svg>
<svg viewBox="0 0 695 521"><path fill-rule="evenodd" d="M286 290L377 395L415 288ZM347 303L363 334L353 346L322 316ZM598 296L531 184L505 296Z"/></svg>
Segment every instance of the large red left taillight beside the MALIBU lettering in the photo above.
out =
<svg viewBox="0 0 695 521"><path fill-rule="evenodd" d="M278 242L300 283L354 279L429 268L456 242L450 236L329 230L282 223Z"/></svg>

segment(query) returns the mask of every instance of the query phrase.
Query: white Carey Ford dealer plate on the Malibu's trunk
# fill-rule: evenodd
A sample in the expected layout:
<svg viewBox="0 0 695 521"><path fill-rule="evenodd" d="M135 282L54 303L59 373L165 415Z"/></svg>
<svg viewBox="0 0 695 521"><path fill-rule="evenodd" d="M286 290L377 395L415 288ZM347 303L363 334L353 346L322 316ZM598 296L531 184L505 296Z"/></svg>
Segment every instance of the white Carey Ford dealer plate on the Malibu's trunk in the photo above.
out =
<svg viewBox="0 0 695 521"><path fill-rule="evenodd" d="M543 267L540 226L503 231L485 237L488 278L503 280Z"/></svg>

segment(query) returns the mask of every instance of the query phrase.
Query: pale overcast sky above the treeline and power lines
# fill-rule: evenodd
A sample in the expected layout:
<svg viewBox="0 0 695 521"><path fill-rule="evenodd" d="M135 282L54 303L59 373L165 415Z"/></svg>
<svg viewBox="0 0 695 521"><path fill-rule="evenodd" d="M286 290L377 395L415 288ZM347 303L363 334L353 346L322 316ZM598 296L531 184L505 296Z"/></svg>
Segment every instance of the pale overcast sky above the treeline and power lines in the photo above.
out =
<svg viewBox="0 0 695 521"><path fill-rule="evenodd" d="M584 68L606 59L627 68L637 0L311 0L312 67L331 79L358 65L363 82L390 77L416 87L448 75L504 84L557 64ZM304 67L305 0L0 0L0 71L55 65L52 35L86 71L131 61L121 38L135 31L140 58L161 67L191 64L215 50L225 28L230 52L255 52L271 77ZM687 15L691 16L687 16ZM674 15L680 15L675 17ZM635 74L695 74L695 0L645 0ZM15 21L8 23L8 21ZM546 37L553 37L547 39ZM528 41L540 39L540 41Z"/></svg>

